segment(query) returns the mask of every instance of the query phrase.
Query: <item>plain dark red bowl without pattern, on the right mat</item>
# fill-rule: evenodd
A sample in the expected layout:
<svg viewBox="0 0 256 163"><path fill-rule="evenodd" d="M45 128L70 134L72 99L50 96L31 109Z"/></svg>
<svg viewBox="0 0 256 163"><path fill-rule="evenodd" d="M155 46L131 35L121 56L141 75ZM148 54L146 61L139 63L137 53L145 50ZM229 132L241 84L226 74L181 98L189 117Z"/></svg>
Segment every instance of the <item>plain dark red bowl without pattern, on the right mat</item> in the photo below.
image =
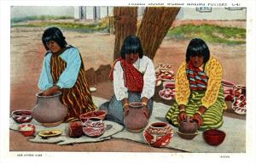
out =
<svg viewBox="0 0 256 163"><path fill-rule="evenodd" d="M226 133L217 129L209 129L203 132L203 138L210 145L219 145L224 142Z"/></svg>

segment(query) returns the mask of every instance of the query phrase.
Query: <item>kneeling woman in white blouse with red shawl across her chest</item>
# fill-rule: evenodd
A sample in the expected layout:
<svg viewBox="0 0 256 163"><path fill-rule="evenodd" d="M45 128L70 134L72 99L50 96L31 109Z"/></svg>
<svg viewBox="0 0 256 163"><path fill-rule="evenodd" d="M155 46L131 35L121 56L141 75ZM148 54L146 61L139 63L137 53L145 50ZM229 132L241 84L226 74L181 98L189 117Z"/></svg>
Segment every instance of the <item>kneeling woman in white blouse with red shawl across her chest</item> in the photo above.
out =
<svg viewBox="0 0 256 163"><path fill-rule="evenodd" d="M114 95L111 100L100 106L107 110L107 119L124 124L124 112L129 110L129 103L142 102L144 109L151 115L154 95L154 64L143 55L143 48L138 37L125 38L119 59L115 60L110 73L113 80Z"/></svg>

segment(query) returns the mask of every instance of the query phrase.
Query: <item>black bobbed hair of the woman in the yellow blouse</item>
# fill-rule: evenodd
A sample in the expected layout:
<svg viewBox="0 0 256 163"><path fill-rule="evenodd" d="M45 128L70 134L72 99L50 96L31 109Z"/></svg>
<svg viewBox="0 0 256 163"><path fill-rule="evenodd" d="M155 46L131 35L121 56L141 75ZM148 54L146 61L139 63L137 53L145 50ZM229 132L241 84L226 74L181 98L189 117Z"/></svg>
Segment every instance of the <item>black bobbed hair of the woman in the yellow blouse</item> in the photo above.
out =
<svg viewBox="0 0 256 163"><path fill-rule="evenodd" d="M194 38L189 42L186 53L186 62L190 60L190 56L203 56L204 64L210 59L210 51L207 46L207 43L204 42L201 38Z"/></svg>

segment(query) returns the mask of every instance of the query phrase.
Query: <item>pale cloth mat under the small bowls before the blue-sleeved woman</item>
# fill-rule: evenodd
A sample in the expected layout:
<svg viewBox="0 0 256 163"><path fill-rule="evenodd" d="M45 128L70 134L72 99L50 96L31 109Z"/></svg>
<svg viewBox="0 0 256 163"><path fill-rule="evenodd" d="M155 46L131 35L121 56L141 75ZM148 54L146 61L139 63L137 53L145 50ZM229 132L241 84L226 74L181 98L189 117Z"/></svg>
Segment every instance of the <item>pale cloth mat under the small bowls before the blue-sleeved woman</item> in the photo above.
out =
<svg viewBox="0 0 256 163"><path fill-rule="evenodd" d="M106 99L103 98L95 98L93 97L93 101L96 104L96 106L99 106L103 102L107 101ZM34 134L36 137L35 138L30 138L28 139L30 142L34 143L57 143L59 145L64 145L64 144L69 144L69 143L88 143L88 142L100 142L103 140L108 140L110 139L111 135L120 132L124 129L124 126L119 125L116 122L113 121L104 121L106 125L106 132L103 133L103 135L99 138L90 138L86 136L82 136L80 138L70 138L68 137L68 123L61 123L59 126L54 126L54 127L44 127L41 126L38 121L32 120L32 124L36 126L36 133ZM12 130L18 130L19 128L18 123L16 123L12 118L9 119L9 128ZM51 130L51 129L57 129L61 130L61 136L59 137L52 137L52 138L41 138L38 135L38 132L42 130Z"/></svg>

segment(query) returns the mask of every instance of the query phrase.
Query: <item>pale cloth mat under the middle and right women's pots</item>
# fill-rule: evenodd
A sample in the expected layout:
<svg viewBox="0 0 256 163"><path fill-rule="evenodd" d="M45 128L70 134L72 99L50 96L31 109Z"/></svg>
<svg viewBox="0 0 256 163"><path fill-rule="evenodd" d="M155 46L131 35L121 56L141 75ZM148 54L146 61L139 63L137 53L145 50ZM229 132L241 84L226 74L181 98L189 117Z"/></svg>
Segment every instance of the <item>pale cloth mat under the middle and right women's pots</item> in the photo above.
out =
<svg viewBox="0 0 256 163"><path fill-rule="evenodd" d="M162 103L154 103L153 113L149 119L148 125L156 121L166 121L165 115L170 106ZM236 126L236 128L234 127ZM245 153L246 152L246 121L230 118L224 116L224 125L219 128L226 133L224 143L218 146L208 145L199 132L192 140L179 138L177 135L177 127L172 126L173 138L171 142L166 145L166 148L180 149L188 152L196 153ZM125 138L139 143L146 143L143 138L143 132L131 133L127 130L118 132L112 138Z"/></svg>

